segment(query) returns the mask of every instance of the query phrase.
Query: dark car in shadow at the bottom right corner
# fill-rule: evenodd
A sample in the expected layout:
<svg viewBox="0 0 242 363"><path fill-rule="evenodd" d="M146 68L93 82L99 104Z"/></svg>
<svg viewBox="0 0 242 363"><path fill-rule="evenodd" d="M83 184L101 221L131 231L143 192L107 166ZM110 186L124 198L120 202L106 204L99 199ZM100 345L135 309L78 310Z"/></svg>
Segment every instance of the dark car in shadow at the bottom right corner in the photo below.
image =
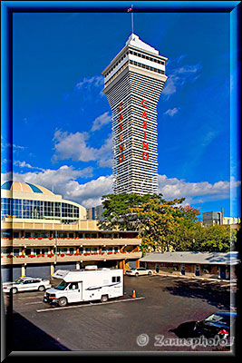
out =
<svg viewBox="0 0 242 363"><path fill-rule="evenodd" d="M194 331L205 337L230 338L230 331L235 326L237 313L231 311L219 311L204 320L197 321Z"/></svg>

